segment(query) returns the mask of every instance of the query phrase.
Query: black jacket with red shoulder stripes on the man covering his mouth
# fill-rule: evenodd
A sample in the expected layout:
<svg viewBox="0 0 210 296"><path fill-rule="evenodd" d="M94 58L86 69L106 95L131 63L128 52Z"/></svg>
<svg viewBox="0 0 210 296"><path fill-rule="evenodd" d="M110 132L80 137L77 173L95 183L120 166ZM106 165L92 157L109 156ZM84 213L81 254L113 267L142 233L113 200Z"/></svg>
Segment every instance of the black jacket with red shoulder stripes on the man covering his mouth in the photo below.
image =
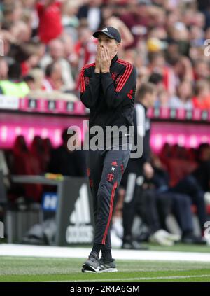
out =
<svg viewBox="0 0 210 296"><path fill-rule="evenodd" d="M80 99L90 108L89 127L133 125L137 71L129 62L111 61L109 73L94 73L95 63L80 73Z"/></svg>

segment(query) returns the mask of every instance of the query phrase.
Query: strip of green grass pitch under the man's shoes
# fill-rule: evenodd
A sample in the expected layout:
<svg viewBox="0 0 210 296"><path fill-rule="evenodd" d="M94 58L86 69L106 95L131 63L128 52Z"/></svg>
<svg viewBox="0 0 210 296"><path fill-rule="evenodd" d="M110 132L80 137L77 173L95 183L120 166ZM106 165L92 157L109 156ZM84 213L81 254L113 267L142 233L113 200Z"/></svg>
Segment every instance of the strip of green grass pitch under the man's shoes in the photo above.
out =
<svg viewBox="0 0 210 296"><path fill-rule="evenodd" d="M83 274L83 259L0 258L1 282L38 281L210 281L210 263L117 260L118 272Z"/></svg>

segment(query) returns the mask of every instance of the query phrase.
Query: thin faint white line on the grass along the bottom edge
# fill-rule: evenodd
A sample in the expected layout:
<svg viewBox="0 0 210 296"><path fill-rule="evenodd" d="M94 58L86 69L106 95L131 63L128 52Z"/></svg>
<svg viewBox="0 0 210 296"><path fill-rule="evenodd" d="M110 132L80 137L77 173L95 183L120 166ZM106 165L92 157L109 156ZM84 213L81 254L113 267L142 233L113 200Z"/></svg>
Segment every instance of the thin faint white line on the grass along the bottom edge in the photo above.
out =
<svg viewBox="0 0 210 296"><path fill-rule="evenodd" d="M160 280L160 279L190 279L190 278L210 278L210 274L200 274L192 276L151 276L151 277L139 277L139 278L120 278L120 279L88 279L88 281L150 281L150 280ZM86 282L87 280L78 281L54 281L54 282Z"/></svg>

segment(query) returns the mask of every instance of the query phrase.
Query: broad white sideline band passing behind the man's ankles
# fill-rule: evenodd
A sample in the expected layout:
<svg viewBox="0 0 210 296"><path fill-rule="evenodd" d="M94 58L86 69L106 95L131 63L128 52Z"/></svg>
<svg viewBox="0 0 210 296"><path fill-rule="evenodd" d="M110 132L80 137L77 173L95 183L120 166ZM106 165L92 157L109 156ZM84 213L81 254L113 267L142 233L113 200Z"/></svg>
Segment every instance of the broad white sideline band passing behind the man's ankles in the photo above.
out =
<svg viewBox="0 0 210 296"><path fill-rule="evenodd" d="M89 253L90 248L0 244L0 256L87 258ZM113 258L122 260L194 261L208 263L210 262L210 253L113 249Z"/></svg>

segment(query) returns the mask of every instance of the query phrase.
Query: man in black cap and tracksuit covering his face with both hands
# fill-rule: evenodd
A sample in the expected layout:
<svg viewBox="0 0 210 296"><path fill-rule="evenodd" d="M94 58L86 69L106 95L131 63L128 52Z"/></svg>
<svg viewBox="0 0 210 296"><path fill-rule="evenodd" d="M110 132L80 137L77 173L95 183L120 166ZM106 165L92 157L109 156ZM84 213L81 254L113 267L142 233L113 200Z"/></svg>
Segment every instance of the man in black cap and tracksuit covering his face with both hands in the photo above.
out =
<svg viewBox="0 0 210 296"><path fill-rule="evenodd" d="M80 73L80 99L90 108L89 131L101 127L104 141L97 150L90 145L87 157L95 232L93 248L82 271L117 272L111 255L110 223L116 189L130 157L129 127L133 125L137 71L129 62L118 59L121 36L117 29L105 27L93 36L98 38L96 61L84 66ZM113 144L114 136L106 134L106 127L125 127L127 132L123 129L118 134L119 143ZM90 134L90 144L91 139Z"/></svg>

